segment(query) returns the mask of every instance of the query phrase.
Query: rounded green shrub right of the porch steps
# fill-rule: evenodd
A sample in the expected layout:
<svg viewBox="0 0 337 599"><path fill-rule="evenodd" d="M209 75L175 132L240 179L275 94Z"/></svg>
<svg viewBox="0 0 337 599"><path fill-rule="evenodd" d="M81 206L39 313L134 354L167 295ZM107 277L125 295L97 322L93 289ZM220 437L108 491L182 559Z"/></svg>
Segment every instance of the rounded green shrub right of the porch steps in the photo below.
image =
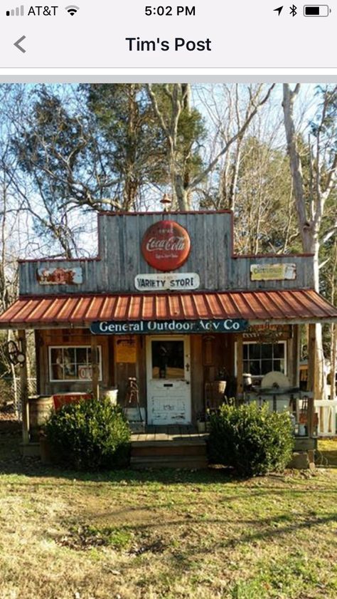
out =
<svg viewBox="0 0 337 599"><path fill-rule="evenodd" d="M293 447L289 415L269 412L268 405L223 405L210 417L210 460L232 466L240 475L283 470Z"/></svg>

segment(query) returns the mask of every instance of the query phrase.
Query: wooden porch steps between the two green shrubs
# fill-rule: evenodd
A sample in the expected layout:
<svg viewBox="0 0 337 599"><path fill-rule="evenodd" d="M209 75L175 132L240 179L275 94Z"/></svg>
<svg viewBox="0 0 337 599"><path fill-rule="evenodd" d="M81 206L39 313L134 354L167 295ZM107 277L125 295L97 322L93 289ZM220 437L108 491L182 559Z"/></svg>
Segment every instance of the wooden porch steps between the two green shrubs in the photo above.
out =
<svg viewBox="0 0 337 599"><path fill-rule="evenodd" d="M180 441L134 441L131 444L132 468L206 468L204 439Z"/></svg>

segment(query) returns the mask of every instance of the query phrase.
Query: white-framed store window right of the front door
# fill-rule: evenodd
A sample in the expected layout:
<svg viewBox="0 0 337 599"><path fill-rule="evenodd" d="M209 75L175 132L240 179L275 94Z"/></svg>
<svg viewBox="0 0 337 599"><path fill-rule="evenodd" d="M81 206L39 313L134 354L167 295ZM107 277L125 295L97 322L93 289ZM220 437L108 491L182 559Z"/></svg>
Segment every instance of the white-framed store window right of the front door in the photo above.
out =
<svg viewBox="0 0 337 599"><path fill-rule="evenodd" d="M264 376L272 370L287 374L286 343L243 342L243 372Z"/></svg>

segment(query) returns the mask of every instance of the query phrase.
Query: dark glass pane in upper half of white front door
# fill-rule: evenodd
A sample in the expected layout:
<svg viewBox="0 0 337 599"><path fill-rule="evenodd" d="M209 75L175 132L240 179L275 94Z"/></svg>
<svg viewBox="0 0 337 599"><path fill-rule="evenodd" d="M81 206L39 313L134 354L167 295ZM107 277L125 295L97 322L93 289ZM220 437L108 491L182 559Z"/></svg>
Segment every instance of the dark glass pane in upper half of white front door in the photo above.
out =
<svg viewBox="0 0 337 599"><path fill-rule="evenodd" d="M183 341L152 341L152 378L184 378Z"/></svg>

